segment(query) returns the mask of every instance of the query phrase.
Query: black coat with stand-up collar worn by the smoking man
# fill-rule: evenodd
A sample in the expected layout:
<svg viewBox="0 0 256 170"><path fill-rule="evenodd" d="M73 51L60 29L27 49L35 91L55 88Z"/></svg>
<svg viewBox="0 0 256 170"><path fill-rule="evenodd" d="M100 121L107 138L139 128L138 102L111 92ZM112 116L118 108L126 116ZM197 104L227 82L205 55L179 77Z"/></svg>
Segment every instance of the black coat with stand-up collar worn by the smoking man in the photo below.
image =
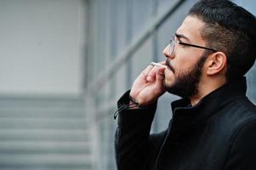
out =
<svg viewBox="0 0 256 170"><path fill-rule="evenodd" d="M129 93L129 92L128 92ZM128 93L118 107L128 104ZM119 113L119 170L256 170L256 107L243 77L205 96L197 105L172 103L168 129L150 134L156 103Z"/></svg>

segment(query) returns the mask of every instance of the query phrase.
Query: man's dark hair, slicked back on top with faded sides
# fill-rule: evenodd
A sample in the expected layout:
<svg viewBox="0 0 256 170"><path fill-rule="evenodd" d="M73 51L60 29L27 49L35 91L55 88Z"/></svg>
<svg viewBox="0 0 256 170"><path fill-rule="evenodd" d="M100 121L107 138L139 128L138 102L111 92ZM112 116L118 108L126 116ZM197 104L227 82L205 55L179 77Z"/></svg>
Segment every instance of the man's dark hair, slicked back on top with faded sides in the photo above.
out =
<svg viewBox="0 0 256 170"><path fill-rule="evenodd" d="M256 57L255 16L228 0L201 0L189 15L205 23L201 35L208 47L226 54L226 78L245 75Z"/></svg>

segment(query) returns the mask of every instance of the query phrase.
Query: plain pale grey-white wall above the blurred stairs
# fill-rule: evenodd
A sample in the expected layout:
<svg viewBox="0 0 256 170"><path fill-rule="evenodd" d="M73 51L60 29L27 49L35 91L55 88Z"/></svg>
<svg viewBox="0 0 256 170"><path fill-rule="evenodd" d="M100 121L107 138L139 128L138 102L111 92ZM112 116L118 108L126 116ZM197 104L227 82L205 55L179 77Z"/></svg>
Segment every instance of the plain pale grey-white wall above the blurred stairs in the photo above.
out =
<svg viewBox="0 0 256 170"><path fill-rule="evenodd" d="M0 1L0 94L80 94L82 0Z"/></svg>

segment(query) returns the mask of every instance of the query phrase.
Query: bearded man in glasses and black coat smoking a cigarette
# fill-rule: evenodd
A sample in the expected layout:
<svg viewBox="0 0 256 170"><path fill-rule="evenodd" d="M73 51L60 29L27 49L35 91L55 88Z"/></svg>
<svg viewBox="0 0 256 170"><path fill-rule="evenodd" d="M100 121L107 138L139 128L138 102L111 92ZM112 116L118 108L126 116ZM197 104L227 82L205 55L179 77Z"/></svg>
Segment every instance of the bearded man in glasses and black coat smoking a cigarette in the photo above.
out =
<svg viewBox="0 0 256 170"><path fill-rule="evenodd" d="M256 107L246 79L256 56L253 14L227 0L202 0L118 101L119 170L256 169ZM168 129L150 134L156 101L172 103Z"/></svg>

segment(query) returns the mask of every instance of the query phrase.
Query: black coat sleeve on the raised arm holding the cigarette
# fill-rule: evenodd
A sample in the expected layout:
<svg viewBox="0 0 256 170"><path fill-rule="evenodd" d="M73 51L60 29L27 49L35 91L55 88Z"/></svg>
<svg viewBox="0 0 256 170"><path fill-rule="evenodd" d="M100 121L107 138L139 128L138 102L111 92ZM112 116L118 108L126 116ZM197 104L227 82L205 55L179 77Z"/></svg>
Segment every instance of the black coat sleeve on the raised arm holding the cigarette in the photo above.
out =
<svg viewBox="0 0 256 170"><path fill-rule="evenodd" d="M118 101L118 107L128 104L128 94ZM151 164L151 123L156 103L140 109L126 109L119 113L116 131L116 160L118 170L148 170ZM153 135L155 136L155 135Z"/></svg>

